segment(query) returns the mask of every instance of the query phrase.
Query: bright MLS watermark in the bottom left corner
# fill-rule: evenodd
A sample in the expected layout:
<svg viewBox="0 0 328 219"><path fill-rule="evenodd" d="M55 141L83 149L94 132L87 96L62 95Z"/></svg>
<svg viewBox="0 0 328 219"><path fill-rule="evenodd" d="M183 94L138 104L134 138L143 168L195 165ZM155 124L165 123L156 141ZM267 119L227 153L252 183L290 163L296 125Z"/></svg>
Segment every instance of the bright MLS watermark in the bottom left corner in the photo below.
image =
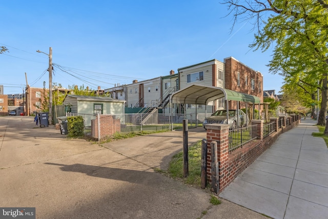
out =
<svg viewBox="0 0 328 219"><path fill-rule="evenodd" d="M35 208L0 207L0 219L3 218L35 219Z"/></svg>

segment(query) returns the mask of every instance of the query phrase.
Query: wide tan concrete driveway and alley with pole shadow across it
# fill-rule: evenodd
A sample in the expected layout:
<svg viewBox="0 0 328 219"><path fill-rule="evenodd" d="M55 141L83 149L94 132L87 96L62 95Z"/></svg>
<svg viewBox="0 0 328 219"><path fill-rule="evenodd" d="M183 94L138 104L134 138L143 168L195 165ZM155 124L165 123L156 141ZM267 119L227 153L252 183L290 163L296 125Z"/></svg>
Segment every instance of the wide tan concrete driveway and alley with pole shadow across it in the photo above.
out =
<svg viewBox="0 0 328 219"><path fill-rule="evenodd" d="M204 137L190 129L190 143ZM98 145L33 117L0 117L0 207L35 207L36 218L264 218L228 201L213 207L209 193L154 172L181 149L180 131Z"/></svg>

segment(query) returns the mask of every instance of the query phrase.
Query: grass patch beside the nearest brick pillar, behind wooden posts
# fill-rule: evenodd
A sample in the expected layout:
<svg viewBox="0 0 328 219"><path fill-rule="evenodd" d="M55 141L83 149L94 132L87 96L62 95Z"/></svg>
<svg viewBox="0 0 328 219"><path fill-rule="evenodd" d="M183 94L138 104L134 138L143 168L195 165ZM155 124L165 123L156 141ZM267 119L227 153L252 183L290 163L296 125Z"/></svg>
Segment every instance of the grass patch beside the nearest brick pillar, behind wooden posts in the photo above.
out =
<svg viewBox="0 0 328 219"><path fill-rule="evenodd" d="M179 152L173 156L168 173L171 177L181 180L183 183L200 187L201 173L201 140L188 148L188 167L189 176L183 177L183 152Z"/></svg>

